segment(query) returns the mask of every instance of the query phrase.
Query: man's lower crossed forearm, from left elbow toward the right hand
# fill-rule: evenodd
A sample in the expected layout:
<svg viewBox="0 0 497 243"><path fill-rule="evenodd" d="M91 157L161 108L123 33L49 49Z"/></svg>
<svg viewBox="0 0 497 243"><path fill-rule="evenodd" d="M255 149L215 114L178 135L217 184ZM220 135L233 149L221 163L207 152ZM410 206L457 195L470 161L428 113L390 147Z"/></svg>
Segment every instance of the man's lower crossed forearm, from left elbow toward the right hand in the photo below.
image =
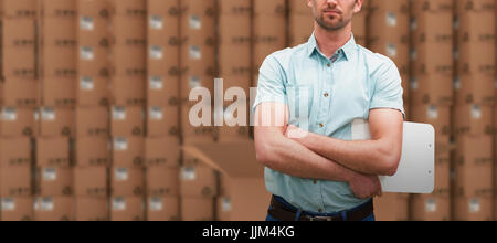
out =
<svg viewBox="0 0 497 243"><path fill-rule="evenodd" d="M257 142L257 158L266 167L293 177L349 182L358 173L281 136Z"/></svg>

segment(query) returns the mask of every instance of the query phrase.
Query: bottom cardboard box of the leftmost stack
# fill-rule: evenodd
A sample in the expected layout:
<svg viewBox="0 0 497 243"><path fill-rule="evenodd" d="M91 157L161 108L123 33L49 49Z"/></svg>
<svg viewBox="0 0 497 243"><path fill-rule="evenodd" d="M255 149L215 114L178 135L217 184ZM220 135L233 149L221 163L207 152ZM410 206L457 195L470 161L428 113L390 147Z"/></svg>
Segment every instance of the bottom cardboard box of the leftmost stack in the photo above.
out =
<svg viewBox="0 0 497 243"><path fill-rule="evenodd" d="M2 198L1 199L2 221L32 221L33 198Z"/></svg>

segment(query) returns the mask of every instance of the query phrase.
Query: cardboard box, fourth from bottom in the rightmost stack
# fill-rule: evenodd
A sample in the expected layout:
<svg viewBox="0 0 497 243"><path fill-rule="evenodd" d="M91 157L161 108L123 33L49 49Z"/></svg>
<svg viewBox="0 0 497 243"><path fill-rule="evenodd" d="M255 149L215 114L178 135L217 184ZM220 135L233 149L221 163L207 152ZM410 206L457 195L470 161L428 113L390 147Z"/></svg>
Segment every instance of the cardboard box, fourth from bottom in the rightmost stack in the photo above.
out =
<svg viewBox="0 0 497 243"><path fill-rule="evenodd" d="M493 135L493 107L465 105L454 107L454 134L456 136Z"/></svg>

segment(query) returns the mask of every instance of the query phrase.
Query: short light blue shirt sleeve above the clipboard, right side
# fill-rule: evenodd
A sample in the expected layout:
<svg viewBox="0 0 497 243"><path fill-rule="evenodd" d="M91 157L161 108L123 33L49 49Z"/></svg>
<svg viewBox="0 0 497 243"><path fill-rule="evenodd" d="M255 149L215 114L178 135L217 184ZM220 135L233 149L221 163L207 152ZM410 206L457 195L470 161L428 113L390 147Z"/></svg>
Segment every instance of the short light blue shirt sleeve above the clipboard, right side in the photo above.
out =
<svg viewBox="0 0 497 243"><path fill-rule="evenodd" d="M370 109L391 108L402 113L405 119L404 102L402 99L402 77L393 62L382 65L373 77L374 93Z"/></svg>

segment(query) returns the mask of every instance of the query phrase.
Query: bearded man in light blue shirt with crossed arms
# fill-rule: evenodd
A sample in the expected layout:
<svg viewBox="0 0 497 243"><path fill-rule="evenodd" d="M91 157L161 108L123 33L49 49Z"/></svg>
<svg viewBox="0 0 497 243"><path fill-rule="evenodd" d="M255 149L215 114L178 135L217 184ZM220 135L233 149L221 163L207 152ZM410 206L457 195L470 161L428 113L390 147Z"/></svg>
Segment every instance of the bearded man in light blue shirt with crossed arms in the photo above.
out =
<svg viewBox="0 0 497 243"><path fill-rule="evenodd" d="M274 194L266 220L374 221L378 176L393 176L401 158L401 77L391 60L356 44L362 0L307 3L313 36L260 70L255 147ZM371 140L351 141L357 118L369 120Z"/></svg>

